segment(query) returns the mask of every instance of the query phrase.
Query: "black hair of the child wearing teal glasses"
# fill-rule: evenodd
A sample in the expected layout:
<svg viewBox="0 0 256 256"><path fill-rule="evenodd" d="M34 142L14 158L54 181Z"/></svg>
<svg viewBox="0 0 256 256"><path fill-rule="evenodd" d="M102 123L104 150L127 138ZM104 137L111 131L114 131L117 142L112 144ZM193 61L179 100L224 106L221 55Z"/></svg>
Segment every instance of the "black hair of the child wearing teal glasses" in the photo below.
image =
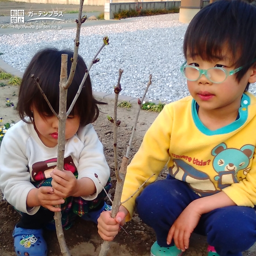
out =
<svg viewBox="0 0 256 256"><path fill-rule="evenodd" d="M218 0L202 8L184 37L185 57L189 52L205 61L221 60L227 50L234 66L244 67L234 74L239 82L256 62L256 7L243 0Z"/></svg>

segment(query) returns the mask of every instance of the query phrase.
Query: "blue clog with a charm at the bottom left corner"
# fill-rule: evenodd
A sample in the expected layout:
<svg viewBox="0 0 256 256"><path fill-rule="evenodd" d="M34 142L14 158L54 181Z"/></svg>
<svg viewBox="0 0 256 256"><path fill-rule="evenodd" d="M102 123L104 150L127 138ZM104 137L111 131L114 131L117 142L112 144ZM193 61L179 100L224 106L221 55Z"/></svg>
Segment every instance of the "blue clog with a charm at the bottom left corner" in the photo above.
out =
<svg viewBox="0 0 256 256"><path fill-rule="evenodd" d="M47 256L47 244L43 238L43 229L13 230L14 249L17 256Z"/></svg>

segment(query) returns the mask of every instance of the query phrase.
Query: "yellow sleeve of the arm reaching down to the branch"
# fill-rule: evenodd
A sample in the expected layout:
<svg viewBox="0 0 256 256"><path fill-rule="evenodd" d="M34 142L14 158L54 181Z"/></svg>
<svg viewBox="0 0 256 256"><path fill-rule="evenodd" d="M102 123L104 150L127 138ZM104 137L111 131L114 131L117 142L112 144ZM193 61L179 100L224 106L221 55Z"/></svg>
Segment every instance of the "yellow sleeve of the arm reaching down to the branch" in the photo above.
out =
<svg viewBox="0 0 256 256"><path fill-rule="evenodd" d="M163 108L146 132L141 147L128 165L121 202L133 195L143 182L153 174L155 175L149 179L146 185L154 182L167 163L173 123L172 116L172 108L169 104ZM129 211L126 221L131 219L135 209L135 199L142 189L122 204Z"/></svg>

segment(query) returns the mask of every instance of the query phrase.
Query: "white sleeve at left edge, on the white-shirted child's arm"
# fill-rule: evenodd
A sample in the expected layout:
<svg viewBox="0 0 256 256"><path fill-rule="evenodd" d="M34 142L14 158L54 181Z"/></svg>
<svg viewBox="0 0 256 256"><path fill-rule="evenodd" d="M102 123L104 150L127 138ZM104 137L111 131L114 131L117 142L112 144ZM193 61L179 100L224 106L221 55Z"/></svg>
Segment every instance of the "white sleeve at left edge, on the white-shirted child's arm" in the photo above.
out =
<svg viewBox="0 0 256 256"><path fill-rule="evenodd" d="M29 215L35 214L40 206L27 211L27 194L34 185L27 169L25 131L10 128L0 147L0 187L7 201L16 209Z"/></svg>

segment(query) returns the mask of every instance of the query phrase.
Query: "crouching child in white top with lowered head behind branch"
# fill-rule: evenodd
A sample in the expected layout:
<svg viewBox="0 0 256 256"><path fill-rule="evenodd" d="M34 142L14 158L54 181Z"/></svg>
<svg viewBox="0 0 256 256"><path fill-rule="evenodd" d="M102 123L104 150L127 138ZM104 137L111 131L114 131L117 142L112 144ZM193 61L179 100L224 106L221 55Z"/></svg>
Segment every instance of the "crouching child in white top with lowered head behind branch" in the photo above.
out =
<svg viewBox="0 0 256 256"><path fill-rule="evenodd" d="M44 49L33 57L20 85L17 109L22 121L7 131L0 148L0 187L7 201L21 212L13 231L17 256L47 256L42 228L54 229L54 212L62 212L62 225L68 229L76 216L97 222L101 211L108 208L101 184L110 188L109 168L91 124L99 115L97 104L105 103L94 99L89 76L67 117L64 171L56 169L58 119L31 75L39 78L58 113L61 54L68 54L69 73L71 51ZM86 68L79 56L67 91L67 109ZM61 208L55 208L57 204Z"/></svg>

